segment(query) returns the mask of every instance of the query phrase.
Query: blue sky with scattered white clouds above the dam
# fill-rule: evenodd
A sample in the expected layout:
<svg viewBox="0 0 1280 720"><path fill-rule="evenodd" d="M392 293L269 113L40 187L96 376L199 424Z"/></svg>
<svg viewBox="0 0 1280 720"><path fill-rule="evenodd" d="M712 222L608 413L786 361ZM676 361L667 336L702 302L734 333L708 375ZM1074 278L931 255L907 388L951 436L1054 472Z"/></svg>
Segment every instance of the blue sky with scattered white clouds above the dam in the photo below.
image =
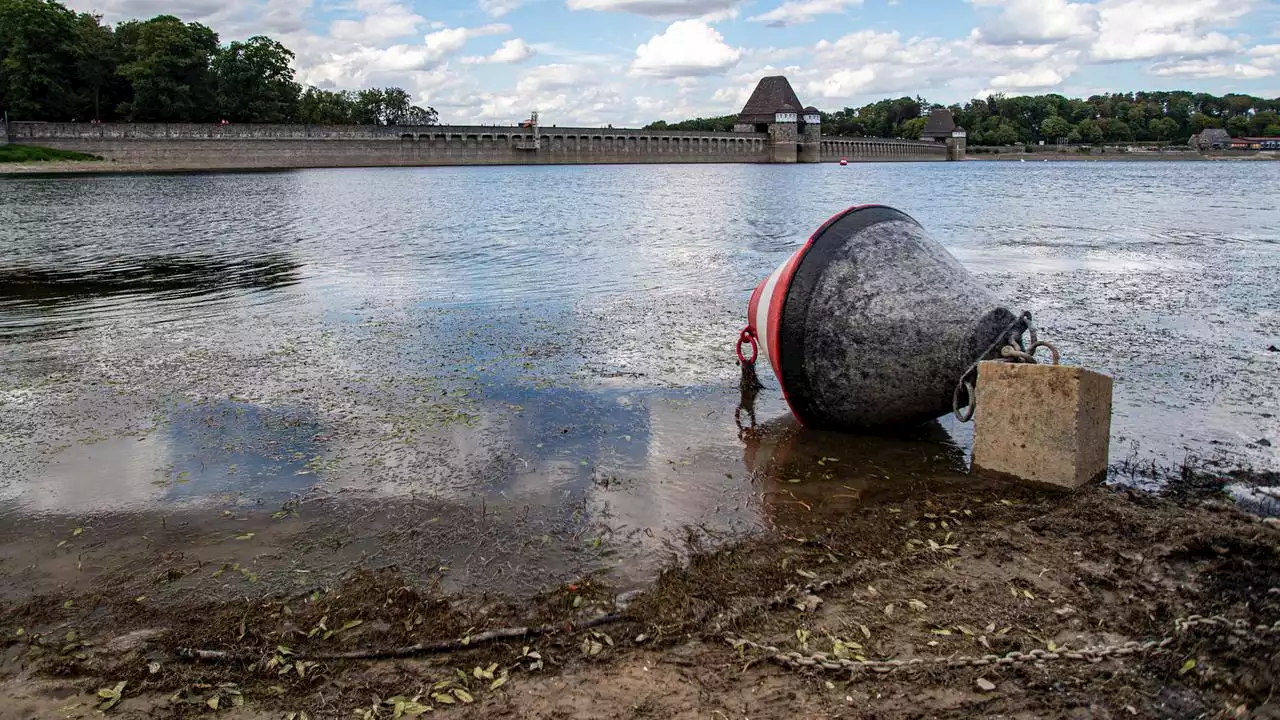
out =
<svg viewBox="0 0 1280 720"><path fill-rule="evenodd" d="M785 74L824 110L886 96L1187 88L1280 96L1262 0L72 0L223 41L270 35L302 82L397 85L444 123L634 126L737 111Z"/></svg>

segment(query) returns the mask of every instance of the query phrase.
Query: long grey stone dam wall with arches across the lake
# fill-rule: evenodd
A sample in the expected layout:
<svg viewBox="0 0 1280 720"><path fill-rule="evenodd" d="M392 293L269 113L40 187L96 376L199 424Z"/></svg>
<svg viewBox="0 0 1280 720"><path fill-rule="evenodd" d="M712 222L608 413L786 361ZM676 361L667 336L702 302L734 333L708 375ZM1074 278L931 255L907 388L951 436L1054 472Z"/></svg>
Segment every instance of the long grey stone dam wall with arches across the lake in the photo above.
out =
<svg viewBox="0 0 1280 720"><path fill-rule="evenodd" d="M10 122L9 140L101 155L118 168L253 169L381 165L776 163L765 133L485 126L275 126ZM823 141L836 161L945 160L932 143ZM855 145L856 143L856 145ZM109 168L104 168L109 169Z"/></svg>

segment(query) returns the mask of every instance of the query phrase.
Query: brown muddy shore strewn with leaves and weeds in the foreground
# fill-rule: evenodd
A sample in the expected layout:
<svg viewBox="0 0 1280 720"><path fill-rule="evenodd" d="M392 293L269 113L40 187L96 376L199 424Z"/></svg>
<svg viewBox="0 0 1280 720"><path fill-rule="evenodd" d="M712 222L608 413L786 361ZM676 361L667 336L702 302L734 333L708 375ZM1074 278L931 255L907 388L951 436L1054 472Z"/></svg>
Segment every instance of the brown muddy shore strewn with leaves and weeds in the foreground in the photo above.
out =
<svg viewBox="0 0 1280 720"><path fill-rule="evenodd" d="M589 573L531 596L445 593L376 562L289 588L275 582L289 568L251 578L243 562L134 548L132 573L0 606L6 714L1275 711L1275 519L946 471L841 488L822 470L841 460L820 460L768 483L769 532L721 544L691 533L637 591Z"/></svg>

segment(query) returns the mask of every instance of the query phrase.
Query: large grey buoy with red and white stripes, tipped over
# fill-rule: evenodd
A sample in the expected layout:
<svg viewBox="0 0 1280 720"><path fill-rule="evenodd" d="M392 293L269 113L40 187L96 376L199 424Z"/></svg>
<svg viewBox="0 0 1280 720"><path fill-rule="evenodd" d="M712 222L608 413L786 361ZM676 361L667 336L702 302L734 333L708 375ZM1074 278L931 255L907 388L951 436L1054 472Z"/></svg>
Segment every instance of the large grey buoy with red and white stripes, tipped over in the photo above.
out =
<svg viewBox="0 0 1280 720"><path fill-rule="evenodd" d="M1020 322L913 218L861 205L756 286L739 357L758 346L808 427L916 424L952 411L957 379Z"/></svg>

